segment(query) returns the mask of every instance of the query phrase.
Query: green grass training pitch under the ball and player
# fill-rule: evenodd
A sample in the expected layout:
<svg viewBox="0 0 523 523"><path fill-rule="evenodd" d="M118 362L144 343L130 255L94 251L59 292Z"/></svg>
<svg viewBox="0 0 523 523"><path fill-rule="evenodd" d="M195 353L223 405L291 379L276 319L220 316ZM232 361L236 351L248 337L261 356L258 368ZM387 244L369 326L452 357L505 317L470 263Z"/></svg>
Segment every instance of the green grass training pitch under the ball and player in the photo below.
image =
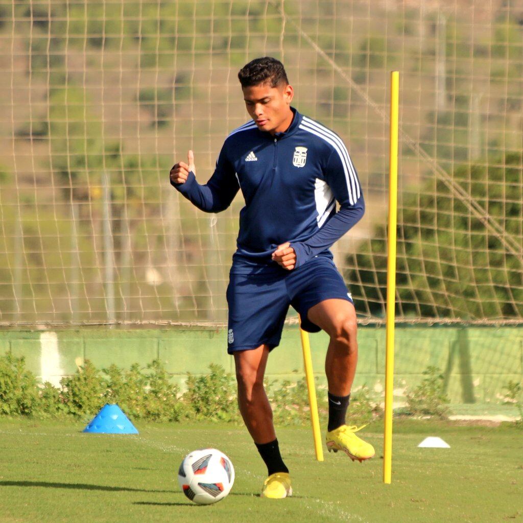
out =
<svg viewBox="0 0 523 523"><path fill-rule="evenodd" d="M311 431L280 428L294 496L258 496L265 467L243 427L138 425L139 436L82 434L82 423L0 420L0 522L168 521L378 523L523 521L523 433L511 426L395 423L392 485L382 483L381 424L365 433L367 463L325 453L314 460ZM450 449L418 449L428 435ZM224 501L196 506L176 472L190 450L230 456L236 482Z"/></svg>

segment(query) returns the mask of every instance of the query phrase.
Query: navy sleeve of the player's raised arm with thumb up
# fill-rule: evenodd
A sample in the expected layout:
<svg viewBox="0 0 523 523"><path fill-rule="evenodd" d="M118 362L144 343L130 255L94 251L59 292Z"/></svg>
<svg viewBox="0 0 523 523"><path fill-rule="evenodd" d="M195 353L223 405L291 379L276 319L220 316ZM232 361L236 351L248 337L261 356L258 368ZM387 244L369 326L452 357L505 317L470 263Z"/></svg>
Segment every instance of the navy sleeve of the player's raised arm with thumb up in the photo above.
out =
<svg viewBox="0 0 523 523"><path fill-rule="evenodd" d="M220 151L216 168L207 184L200 185L191 171L185 183L173 185L185 198L204 212L224 211L240 189L234 168L226 157L225 145Z"/></svg>

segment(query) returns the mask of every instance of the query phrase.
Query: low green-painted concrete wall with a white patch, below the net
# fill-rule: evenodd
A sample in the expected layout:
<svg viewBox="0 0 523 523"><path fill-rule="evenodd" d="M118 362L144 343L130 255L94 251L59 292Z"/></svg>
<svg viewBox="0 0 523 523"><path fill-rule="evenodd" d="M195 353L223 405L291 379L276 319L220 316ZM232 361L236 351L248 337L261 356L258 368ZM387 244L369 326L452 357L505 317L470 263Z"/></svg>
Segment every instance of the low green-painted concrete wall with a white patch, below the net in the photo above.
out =
<svg viewBox="0 0 523 523"><path fill-rule="evenodd" d="M42 381L58 384L89 359L98 368L111 363L129 368L160 359L173 380L181 385L186 373L204 374L209 363L233 372L226 354L224 329L101 329L85 327L62 331L0 331L0 354L10 351L26 358L29 370ZM355 387L366 384L377 392L384 385L385 329L360 327L359 363ZM328 338L311 335L313 368L325 383L323 364ZM453 403L499 402L509 380L523 379L523 327L417 327L396 329L395 397L401 400L406 386L419 383L428 365L445 374ZM287 326L281 345L272 351L270 379L298 380L303 376L297 326Z"/></svg>

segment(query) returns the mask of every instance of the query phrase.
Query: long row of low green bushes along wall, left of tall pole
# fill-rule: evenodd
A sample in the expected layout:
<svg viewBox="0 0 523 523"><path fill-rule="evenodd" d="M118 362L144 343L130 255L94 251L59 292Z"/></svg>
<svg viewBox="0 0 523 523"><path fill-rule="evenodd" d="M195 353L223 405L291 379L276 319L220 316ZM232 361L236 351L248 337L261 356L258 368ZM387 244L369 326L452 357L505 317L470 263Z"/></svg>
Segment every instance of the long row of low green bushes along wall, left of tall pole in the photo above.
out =
<svg viewBox="0 0 523 523"><path fill-rule="evenodd" d="M210 373L187 374L187 390L182 394L171 382L160 360L145 368L138 363L129 370L116 365L102 370L85 360L73 376L60 381L60 388L38 384L25 368L24 358L7 354L0 358L0 415L38 418L69 415L94 416L106 403L117 403L131 419L153 422L189 420L239 422L236 381L223 367L211 363ZM277 425L310 423L309 395L305 379L297 383L266 383ZM325 387L316 386L320 415L328 413ZM364 387L351 402L347 423L369 423L381 415L381 407Z"/></svg>

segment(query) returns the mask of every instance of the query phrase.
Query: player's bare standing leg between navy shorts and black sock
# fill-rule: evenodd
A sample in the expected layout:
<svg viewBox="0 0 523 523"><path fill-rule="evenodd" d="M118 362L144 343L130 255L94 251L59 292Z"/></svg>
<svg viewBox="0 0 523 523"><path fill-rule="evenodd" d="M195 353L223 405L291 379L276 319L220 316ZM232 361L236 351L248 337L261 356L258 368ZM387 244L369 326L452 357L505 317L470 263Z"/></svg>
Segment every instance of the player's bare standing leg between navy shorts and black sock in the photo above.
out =
<svg viewBox="0 0 523 523"><path fill-rule="evenodd" d="M234 353L238 406L249 433L259 445L276 439L272 409L263 384L268 356L267 345Z"/></svg>

